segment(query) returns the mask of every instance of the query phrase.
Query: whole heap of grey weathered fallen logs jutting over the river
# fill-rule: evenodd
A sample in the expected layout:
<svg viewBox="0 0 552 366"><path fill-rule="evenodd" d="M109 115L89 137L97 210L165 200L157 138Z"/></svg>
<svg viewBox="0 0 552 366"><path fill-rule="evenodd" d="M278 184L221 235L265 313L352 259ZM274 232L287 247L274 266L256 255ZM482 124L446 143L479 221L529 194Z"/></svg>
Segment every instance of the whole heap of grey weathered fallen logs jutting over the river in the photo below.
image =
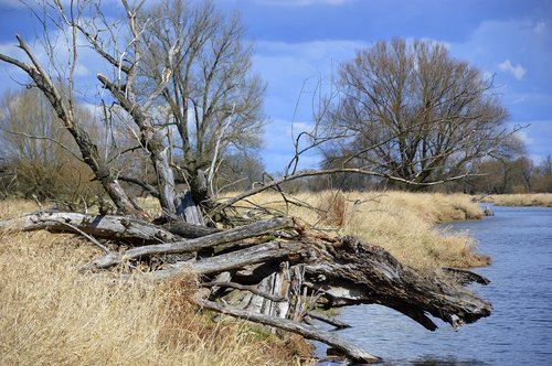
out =
<svg viewBox="0 0 552 366"><path fill-rule="evenodd" d="M171 225L183 227L180 233L193 238L171 233L179 232ZM431 331L437 327L431 315L456 330L492 311L490 303L463 287L473 281L488 283L479 274L446 268L442 276L422 276L381 247L352 237L309 235L283 217L221 230L180 223L160 226L109 215L35 213L0 222L0 229L11 228L86 236L105 252L86 267L88 270L151 259L160 260L161 268L142 273L145 279L160 281L192 270L200 276L201 287L211 289L199 300L200 306L318 340L355 362L380 358L335 333L308 325L317 319L338 329L348 326L315 308L381 304ZM135 246L118 252L100 244L102 239ZM163 261L167 256L182 254L190 259ZM224 301L216 302L221 298Z"/></svg>

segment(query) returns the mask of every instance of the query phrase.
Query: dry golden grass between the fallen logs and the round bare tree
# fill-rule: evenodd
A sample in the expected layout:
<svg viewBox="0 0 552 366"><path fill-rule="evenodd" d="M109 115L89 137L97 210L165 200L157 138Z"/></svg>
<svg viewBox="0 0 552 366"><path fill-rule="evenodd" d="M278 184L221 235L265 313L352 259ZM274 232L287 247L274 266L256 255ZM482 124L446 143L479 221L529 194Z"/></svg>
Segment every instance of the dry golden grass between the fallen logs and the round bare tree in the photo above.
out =
<svg viewBox="0 0 552 366"><path fill-rule="evenodd" d="M338 227L340 234L382 246L411 267L433 270L489 263L487 256L476 254L476 244L468 235L449 235L435 228L437 223L482 216L482 211L467 195L328 191L299 194L297 198L319 211L289 206L291 215L319 228ZM286 209L277 194L264 193L251 201Z"/></svg>

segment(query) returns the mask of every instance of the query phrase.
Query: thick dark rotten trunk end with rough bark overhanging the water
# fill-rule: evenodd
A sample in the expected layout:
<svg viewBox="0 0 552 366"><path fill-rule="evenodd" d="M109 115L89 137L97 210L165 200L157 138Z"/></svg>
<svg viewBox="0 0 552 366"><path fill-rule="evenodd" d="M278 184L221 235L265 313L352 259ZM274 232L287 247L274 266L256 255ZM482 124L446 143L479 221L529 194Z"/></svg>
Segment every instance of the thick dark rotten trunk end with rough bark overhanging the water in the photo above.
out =
<svg viewBox="0 0 552 366"><path fill-rule="evenodd" d="M432 331L437 326L426 313L456 330L492 311L490 303L458 284L423 277L403 267L381 247L364 245L352 237L308 243L318 249L319 258L305 266L306 286L323 293L327 308L382 304Z"/></svg>

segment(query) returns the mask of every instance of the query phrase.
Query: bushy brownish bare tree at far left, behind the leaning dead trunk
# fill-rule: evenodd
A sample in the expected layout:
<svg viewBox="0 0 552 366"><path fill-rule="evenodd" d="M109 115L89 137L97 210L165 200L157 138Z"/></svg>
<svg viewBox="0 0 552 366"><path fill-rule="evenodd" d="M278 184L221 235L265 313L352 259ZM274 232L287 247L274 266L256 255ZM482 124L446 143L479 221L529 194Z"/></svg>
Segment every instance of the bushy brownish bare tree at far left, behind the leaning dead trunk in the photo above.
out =
<svg viewBox="0 0 552 366"><path fill-rule="evenodd" d="M88 133L99 137L92 114L75 109ZM0 141L7 165L18 183L17 193L25 197L67 201L81 196L94 198L92 171L78 155L71 134L59 126L57 116L38 89L7 93L0 105ZM85 197L86 196L86 197Z"/></svg>

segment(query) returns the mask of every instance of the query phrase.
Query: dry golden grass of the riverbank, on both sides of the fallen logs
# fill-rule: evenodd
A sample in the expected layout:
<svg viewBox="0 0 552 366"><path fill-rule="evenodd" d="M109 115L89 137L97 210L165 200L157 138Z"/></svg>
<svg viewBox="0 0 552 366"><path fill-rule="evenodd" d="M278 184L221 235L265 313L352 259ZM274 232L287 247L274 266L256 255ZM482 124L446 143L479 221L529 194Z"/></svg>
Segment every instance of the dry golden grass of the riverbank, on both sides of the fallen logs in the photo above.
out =
<svg viewBox="0 0 552 366"><path fill-rule="evenodd" d="M479 218L465 195L322 192L300 194L290 214L326 233L381 245L422 269L482 266L467 235L444 235L436 223ZM252 201L279 209L277 194ZM0 202L0 219L35 211L24 201ZM155 209L153 205L151 209ZM246 209L246 208L244 208ZM151 288L82 276L99 250L72 235L0 234L0 364L297 365L309 347L227 317L213 322L185 299L195 295L188 273Z"/></svg>

